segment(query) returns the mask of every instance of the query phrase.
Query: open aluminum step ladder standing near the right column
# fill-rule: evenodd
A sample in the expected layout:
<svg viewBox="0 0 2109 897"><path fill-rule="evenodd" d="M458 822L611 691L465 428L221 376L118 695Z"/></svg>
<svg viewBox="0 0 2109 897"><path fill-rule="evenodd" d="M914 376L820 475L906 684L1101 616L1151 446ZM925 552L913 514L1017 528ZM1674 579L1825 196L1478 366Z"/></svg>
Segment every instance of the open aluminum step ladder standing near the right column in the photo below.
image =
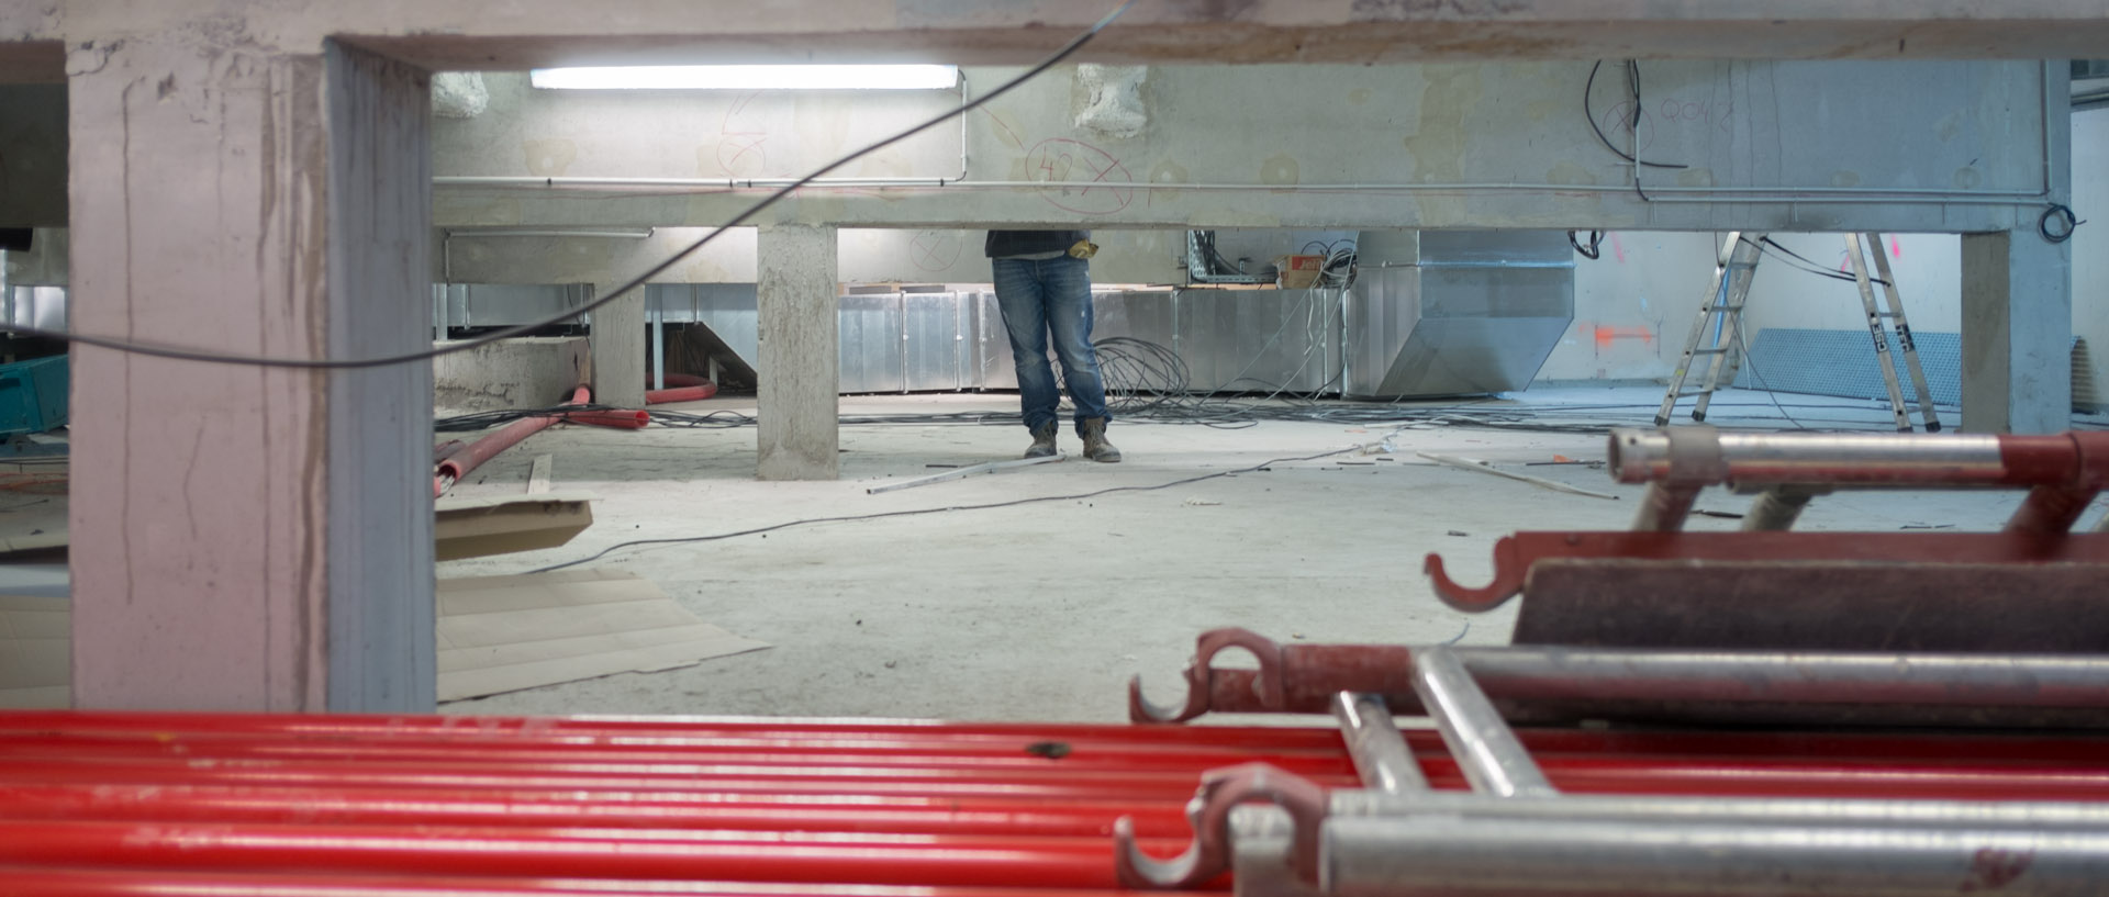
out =
<svg viewBox="0 0 2109 897"><path fill-rule="evenodd" d="M1700 307L1698 320L1691 322L1691 339L1685 341L1677 371L1670 373L1670 387L1662 396L1662 408L1656 411L1658 427L1670 423L1677 402L1683 398L1696 398L1691 419L1706 421L1706 406L1713 402L1713 394L1721 392L1723 373L1734 377L1744 345L1742 310L1750 299L1750 280L1757 276L1757 261L1763 255L1765 242L1765 234L1729 232L1721 244L1719 261L1715 261L1713 293L1708 293L1706 305ZM1871 246L1873 251L1869 251ZM1873 257L1875 276L1869 276L1869 257ZM1904 390L1896 377L1896 356L1890 352L1892 337L1917 394L1926 432L1940 432L1940 417L1934 411L1934 390L1926 383L1926 368L1919 364L1919 347L1911 337L1911 322L1904 318L1904 299L1896 288L1896 276L1890 272L1890 253L1881 246L1881 234L1845 234L1845 259L1852 265L1854 284L1860 286L1860 307L1866 312L1869 335L1875 341L1875 366L1881 368L1881 381L1890 394L1890 413L1896 417L1896 432L1909 434L1913 427L1911 411L1904 406ZM1875 303L1875 284L1883 288L1888 312ZM1706 375L1698 387L1687 390L1691 366L1700 358L1706 358Z"/></svg>

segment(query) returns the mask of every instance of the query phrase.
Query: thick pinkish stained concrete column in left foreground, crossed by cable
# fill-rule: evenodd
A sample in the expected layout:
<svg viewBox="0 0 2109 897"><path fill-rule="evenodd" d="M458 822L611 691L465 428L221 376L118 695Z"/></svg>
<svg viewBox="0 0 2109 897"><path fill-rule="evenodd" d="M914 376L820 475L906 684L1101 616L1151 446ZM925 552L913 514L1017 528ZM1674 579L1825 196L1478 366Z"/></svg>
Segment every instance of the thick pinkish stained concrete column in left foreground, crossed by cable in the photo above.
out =
<svg viewBox="0 0 2109 897"><path fill-rule="evenodd" d="M215 34L72 44L74 328L430 345L426 76ZM428 362L72 373L76 705L432 705Z"/></svg>

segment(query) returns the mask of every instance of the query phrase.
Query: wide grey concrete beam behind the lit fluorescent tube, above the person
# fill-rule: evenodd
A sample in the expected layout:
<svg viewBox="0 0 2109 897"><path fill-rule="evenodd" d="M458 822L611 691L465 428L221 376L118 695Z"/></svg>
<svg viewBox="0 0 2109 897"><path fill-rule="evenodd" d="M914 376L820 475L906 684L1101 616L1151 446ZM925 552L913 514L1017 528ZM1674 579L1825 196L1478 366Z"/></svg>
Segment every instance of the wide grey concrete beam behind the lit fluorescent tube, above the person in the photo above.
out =
<svg viewBox="0 0 2109 897"><path fill-rule="evenodd" d="M1620 65L1599 72L1588 99L1615 147L1639 139L1643 158L1679 166L1645 168L1641 190L1624 150L1584 118L1586 61L1160 65L1139 135L1076 124L1088 84L1052 69L852 162L835 173L848 183L801 190L757 223L1993 232L2042 213L2044 122L2065 116L2069 91L2033 61L1641 69L1630 126ZM985 95L1014 74L983 67L966 80ZM804 173L957 103L943 91L582 103L525 76L487 84L487 114L437 128L434 215L447 225L728 221L768 190L747 179ZM626 137L641 131L654 139Z"/></svg>

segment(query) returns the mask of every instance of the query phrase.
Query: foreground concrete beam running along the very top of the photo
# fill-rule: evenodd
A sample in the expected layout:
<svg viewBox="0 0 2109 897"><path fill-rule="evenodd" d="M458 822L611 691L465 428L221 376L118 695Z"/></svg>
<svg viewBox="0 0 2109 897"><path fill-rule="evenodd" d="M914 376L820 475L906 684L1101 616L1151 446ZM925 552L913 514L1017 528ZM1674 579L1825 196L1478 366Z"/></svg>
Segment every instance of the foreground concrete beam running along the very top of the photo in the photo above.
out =
<svg viewBox="0 0 2109 897"><path fill-rule="evenodd" d="M0 38L78 46L240 17L264 46L316 51L329 36L356 36L348 40L430 69L932 55L1021 63L1111 8L1114 0L605 0L582 17L569 0L55 0L0 8ZM1141 2L1080 61L2046 59L2092 57L2101 46L2109 46L2101 0L1242 0Z"/></svg>

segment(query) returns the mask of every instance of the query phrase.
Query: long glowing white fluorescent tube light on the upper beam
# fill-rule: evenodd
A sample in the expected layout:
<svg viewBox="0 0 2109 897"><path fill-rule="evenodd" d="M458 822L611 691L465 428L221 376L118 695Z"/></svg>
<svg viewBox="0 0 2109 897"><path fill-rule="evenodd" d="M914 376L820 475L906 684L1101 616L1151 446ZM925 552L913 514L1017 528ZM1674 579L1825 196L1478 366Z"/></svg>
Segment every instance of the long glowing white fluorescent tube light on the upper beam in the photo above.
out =
<svg viewBox="0 0 2109 897"><path fill-rule="evenodd" d="M610 65L534 69L557 91L951 91L957 65Z"/></svg>

